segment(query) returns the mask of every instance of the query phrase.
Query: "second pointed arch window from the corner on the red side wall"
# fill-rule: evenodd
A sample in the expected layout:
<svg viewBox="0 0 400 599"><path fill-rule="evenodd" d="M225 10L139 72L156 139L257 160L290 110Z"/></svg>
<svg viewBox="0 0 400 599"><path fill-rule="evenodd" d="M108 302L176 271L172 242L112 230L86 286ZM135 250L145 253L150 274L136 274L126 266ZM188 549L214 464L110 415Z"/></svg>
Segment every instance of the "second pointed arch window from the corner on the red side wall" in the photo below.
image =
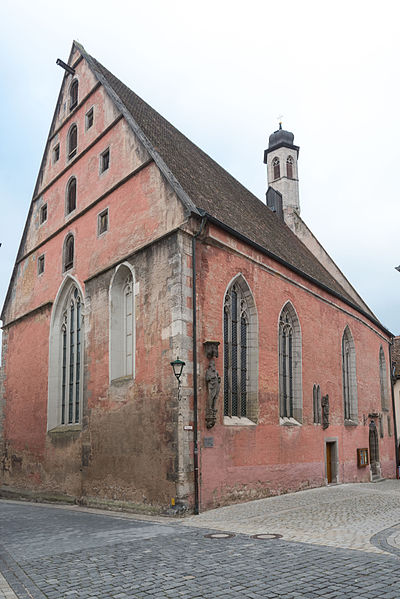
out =
<svg viewBox="0 0 400 599"><path fill-rule="evenodd" d="M301 385L301 330L290 302L279 316L279 415L281 423L300 424L303 419Z"/></svg>

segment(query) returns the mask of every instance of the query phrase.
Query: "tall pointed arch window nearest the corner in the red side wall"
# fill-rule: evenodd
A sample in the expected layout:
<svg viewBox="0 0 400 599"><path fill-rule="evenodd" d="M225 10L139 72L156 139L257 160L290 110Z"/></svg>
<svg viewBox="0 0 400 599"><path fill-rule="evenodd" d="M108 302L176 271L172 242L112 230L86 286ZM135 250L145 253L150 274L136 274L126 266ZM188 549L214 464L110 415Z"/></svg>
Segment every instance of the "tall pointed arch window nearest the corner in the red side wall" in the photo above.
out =
<svg viewBox="0 0 400 599"><path fill-rule="evenodd" d="M224 417L257 421L257 314L253 296L240 275L224 299Z"/></svg>

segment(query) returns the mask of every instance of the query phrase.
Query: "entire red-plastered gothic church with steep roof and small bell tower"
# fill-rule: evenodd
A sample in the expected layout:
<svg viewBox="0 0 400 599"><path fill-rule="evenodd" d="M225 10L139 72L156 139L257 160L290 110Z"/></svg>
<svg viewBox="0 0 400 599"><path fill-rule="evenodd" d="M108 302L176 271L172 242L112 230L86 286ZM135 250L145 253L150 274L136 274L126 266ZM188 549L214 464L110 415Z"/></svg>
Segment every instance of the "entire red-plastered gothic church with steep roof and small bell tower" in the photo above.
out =
<svg viewBox="0 0 400 599"><path fill-rule="evenodd" d="M198 512L395 477L391 333L300 217L293 134L263 202L80 44L58 63L1 315L0 494Z"/></svg>

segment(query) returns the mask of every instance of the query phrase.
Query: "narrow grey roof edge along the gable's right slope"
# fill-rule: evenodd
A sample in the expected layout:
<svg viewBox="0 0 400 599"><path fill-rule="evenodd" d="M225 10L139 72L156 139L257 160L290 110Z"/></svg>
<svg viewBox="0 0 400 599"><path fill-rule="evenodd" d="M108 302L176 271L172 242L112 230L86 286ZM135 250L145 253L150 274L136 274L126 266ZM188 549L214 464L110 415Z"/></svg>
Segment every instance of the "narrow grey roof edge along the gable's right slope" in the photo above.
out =
<svg viewBox="0 0 400 599"><path fill-rule="evenodd" d="M111 100L114 102L114 104L116 105L118 110L121 112L121 114L123 114L124 118L126 119L127 123L131 127L132 131L140 139L140 141L142 142L142 144L144 145L144 147L146 148L146 150L148 151L150 156L153 158L154 162L156 163L156 165L158 166L158 168L160 169L160 171L162 172L164 177L167 179L167 181L169 182L169 184L175 191L178 198L183 203L184 207L186 208L187 215L191 214L191 213L200 215L199 209L197 208L196 204L188 196L188 194L183 189L183 187L181 186L179 181L176 179L176 177L174 176L172 171L168 168L168 166L164 162L163 158L160 156L160 154L154 148L153 144L150 142L148 137L144 134L141 127L139 127L138 123L133 118L132 114L130 113L128 108L125 106L124 102L121 100L121 98L119 97L117 92L114 90L112 85L110 85L107 78L98 70L98 68L96 67L96 64L95 64L94 60L92 59L92 57L90 56L90 54L88 54L86 52L86 50L84 49L83 46L81 46L81 44L76 43L76 45L78 46L79 51L84 56L87 63L89 64L89 67L93 71L94 75L97 77L97 79L100 81L100 83L104 86L104 89L110 96Z"/></svg>

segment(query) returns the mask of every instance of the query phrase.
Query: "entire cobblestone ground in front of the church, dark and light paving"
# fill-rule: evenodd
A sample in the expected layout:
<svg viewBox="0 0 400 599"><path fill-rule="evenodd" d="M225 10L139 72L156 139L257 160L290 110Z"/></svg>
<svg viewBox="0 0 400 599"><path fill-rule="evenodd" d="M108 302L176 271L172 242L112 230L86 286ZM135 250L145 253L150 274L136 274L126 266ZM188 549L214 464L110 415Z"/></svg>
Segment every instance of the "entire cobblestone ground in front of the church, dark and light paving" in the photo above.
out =
<svg viewBox="0 0 400 599"><path fill-rule="evenodd" d="M399 523L399 481L178 520L0 501L0 599L399 599Z"/></svg>

